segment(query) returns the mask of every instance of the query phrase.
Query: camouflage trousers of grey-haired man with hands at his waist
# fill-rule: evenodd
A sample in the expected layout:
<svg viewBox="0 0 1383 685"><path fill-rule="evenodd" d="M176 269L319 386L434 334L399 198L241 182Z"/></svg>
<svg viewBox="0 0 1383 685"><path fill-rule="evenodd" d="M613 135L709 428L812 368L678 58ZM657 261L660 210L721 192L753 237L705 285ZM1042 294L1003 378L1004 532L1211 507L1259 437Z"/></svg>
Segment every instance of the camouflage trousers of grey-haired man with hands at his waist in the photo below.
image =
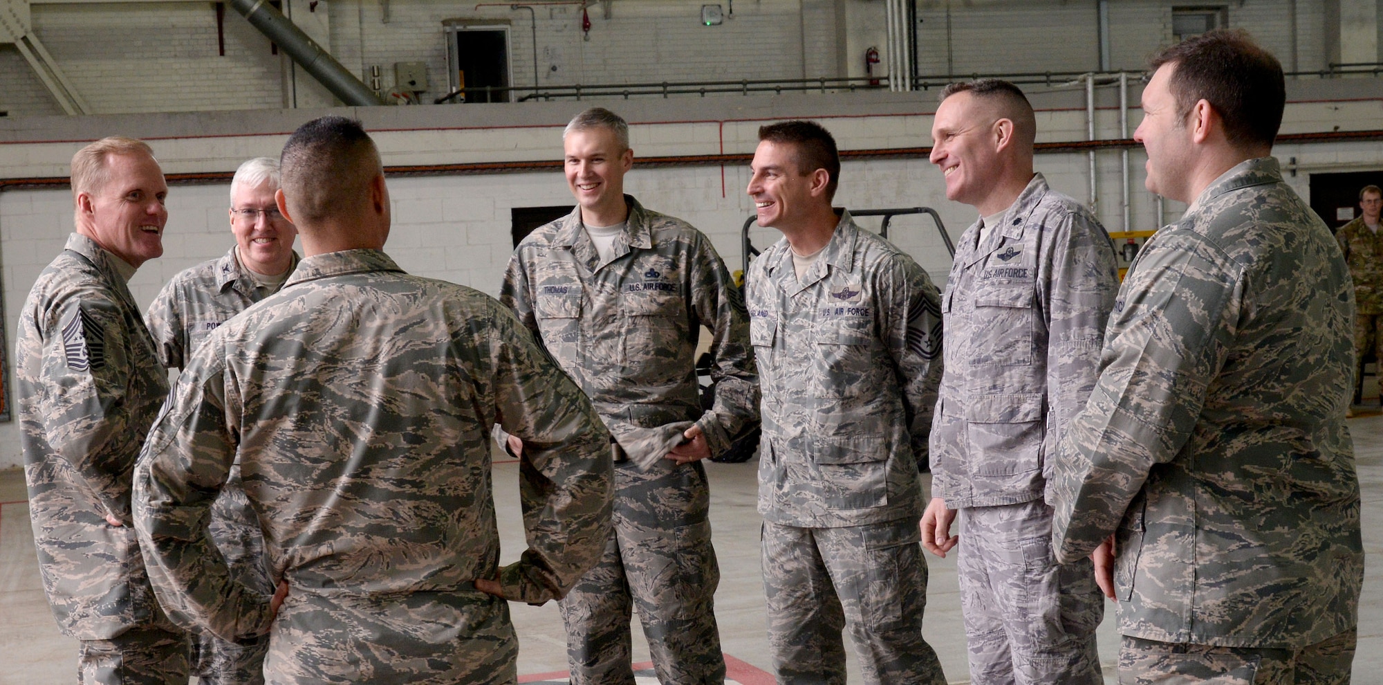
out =
<svg viewBox="0 0 1383 685"><path fill-rule="evenodd" d="M633 685L632 608L658 682L725 682L714 603L721 569L711 547L705 468L662 459L643 472L622 462L615 464L614 484L614 527L604 554L557 602L573 685Z"/></svg>

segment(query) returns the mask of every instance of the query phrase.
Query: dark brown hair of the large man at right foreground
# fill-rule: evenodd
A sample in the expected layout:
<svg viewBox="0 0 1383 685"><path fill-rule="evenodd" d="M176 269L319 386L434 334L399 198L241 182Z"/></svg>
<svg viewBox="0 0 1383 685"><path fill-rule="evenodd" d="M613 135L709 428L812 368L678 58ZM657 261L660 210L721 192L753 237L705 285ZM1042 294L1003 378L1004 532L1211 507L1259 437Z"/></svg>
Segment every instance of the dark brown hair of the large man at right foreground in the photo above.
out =
<svg viewBox="0 0 1383 685"><path fill-rule="evenodd" d="M1177 118L1185 120L1205 100L1224 120L1231 145L1268 145L1278 137L1286 83L1282 62L1243 29L1216 29L1192 36L1152 54L1152 71L1171 65L1167 83L1177 101Z"/></svg>

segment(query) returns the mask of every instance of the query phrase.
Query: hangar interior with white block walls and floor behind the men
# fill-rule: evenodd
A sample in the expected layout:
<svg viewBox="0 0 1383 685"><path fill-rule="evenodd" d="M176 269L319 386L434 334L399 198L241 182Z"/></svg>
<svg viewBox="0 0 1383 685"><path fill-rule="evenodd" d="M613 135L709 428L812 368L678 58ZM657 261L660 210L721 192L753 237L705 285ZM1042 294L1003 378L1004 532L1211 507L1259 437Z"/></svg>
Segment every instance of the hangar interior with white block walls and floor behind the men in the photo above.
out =
<svg viewBox="0 0 1383 685"><path fill-rule="evenodd" d="M491 295L524 217L571 206L559 173L561 127L591 105L631 123L628 191L709 235L732 270L744 262L745 235L759 249L777 239L757 226L745 232L754 205L744 188L757 129L788 118L816 119L837 137L837 205L931 208L958 238L975 213L946 199L927 154L939 86L971 75L1022 84L1037 109L1037 170L1086 201L1120 248L1137 245L1185 209L1144 190L1145 155L1131 140L1144 58L1217 26L1247 29L1289 72L1274 155L1332 227L1355 216L1353 194L1379 183L1371 174L1383 179L1383 3L1375 0L275 4L310 44L279 46L235 0L0 0L6 357L29 286L71 232L72 152L115 133L147 140L171 185L163 257L130 282L141 306L177 271L225 252L236 165L277 156L297 125L328 111L358 118L380 147L393 198L390 256L409 273ZM340 73L319 80L289 54L313 46ZM355 84L342 87L342 75ZM335 87L324 84L333 79ZM382 104L353 102L361 91ZM928 214L895 217L889 237L945 282L950 255ZM4 367L8 415L12 376ZM1375 383L1365 396L1377 401ZM1383 645L1383 533L1372 526L1383 520L1383 417L1364 415L1350 428L1371 555L1355 675L1368 682L1383 666L1369 649ZM0 682L57 682L72 648L39 591L22 462L18 426L0 423L0 469L10 469L0 471L0 598L7 614L24 616L0 627ZM496 488L509 490L496 498L513 556L523 547L516 469L496 469ZM757 519L752 465L711 471L725 649L766 667L758 530L745 523ZM952 682L968 682L964 637L954 630L954 560L928 560L928 637L945 652ZM1106 677L1117 639L1112 616L1111 605L1101 632ZM564 667L555 609L516 606L514 620L520 673Z"/></svg>

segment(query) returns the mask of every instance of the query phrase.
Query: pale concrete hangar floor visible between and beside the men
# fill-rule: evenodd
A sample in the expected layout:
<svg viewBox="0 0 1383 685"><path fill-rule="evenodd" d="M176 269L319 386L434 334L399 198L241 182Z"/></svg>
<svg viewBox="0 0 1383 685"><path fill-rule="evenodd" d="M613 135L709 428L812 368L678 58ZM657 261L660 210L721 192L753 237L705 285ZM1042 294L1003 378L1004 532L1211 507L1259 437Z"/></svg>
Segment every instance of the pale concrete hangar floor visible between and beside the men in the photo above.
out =
<svg viewBox="0 0 1383 685"><path fill-rule="evenodd" d="M1361 415L1350 421L1350 429L1364 491L1364 547L1368 554L1354 681L1383 684L1383 415ZM712 483L711 520L721 562L716 617L722 648L726 655L768 670L755 469L757 462L707 464ZM495 465L495 502L505 562L516 559L523 551L517 477L516 464ZM927 555L927 560L931 583L924 632L940 655L950 682L969 682L954 555L947 559ZM566 670L566 642L556 605L534 608L516 603L512 609L521 643L520 677ZM18 469L0 472L0 684L72 682L76 643L58 632L43 598L24 475ZM1099 653L1106 682L1111 684L1116 682L1113 659L1117 635L1113 624L1115 608L1109 603L1099 627ZM638 625L633 634L635 659L646 661L649 650ZM853 656L849 668L851 682L859 682Z"/></svg>

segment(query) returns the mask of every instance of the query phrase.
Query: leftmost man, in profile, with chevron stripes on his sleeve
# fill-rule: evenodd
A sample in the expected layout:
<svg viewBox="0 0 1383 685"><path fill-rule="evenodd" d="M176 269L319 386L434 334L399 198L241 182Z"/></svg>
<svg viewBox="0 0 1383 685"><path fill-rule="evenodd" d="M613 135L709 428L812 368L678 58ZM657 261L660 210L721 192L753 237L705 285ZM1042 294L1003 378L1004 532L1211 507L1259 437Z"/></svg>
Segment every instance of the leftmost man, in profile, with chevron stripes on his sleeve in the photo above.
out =
<svg viewBox="0 0 1383 685"><path fill-rule="evenodd" d="M126 285L163 255L167 184L141 141L72 158L76 232L19 316L15 382L43 590L82 684L187 685L187 637L155 602L130 479L169 385Z"/></svg>

